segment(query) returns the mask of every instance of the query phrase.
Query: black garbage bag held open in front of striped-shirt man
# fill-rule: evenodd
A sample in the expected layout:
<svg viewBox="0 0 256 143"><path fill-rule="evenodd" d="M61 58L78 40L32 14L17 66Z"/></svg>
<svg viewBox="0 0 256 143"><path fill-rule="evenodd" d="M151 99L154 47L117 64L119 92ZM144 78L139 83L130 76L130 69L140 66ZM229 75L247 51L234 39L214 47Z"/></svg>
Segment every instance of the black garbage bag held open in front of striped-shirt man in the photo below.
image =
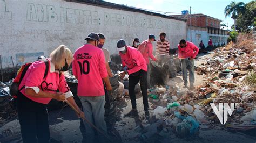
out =
<svg viewBox="0 0 256 143"><path fill-rule="evenodd" d="M169 80L169 58L158 58L160 61L150 62L150 84L151 85L165 85Z"/></svg>

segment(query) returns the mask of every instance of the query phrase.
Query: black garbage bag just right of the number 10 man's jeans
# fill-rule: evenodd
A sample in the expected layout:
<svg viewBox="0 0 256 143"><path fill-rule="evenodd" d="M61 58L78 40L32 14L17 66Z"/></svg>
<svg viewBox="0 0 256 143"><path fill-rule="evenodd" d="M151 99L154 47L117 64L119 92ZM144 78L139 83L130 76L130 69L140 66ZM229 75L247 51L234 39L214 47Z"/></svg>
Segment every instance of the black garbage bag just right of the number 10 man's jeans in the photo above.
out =
<svg viewBox="0 0 256 143"><path fill-rule="evenodd" d="M112 86L112 91L105 91L105 121L107 125L107 131L112 132L114 125L116 124L117 118L117 95L119 87L119 77L114 76L109 78L110 84Z"/></svg>

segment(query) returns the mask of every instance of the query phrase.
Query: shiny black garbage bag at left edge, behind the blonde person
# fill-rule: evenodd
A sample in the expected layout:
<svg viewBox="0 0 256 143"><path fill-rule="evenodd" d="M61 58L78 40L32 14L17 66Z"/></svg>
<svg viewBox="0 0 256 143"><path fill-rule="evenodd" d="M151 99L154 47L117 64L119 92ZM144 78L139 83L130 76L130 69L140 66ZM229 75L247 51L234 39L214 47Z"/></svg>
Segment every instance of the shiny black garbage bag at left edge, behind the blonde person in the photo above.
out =
<svg viewBox="0 0 256 143"><path fill-rule="evenodd" d="M8 85L0 82L0 110L5 109L11 102L10 88Z"/></svg>

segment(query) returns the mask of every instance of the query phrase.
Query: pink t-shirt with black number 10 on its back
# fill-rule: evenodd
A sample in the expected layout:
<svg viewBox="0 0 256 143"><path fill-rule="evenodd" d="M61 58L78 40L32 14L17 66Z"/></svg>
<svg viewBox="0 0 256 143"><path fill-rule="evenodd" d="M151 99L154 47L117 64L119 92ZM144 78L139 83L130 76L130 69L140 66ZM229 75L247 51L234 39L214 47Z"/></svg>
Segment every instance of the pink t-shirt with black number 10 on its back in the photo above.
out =
<svg viewBox="0 0 256 143"><path fill-rule="evenodd" d="M102 78L107 77L102 49L91 44L79 47L74 54L73 75L78 80L78 96L103 96Z"/></svg>

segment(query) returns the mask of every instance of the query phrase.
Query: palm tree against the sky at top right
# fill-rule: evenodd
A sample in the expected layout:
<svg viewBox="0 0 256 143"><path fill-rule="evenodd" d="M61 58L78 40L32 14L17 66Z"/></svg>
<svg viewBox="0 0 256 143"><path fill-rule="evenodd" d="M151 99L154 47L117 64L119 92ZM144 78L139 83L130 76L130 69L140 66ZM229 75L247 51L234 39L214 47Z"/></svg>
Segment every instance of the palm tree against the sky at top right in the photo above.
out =
<svg viewBox="0 0 256 143"><path fill-rule="evenodd" d="M244 6L245 6L245 3L243 2L235 3L235 1L234 2L232 1L230 4L226 6L224 10L225 17L232 15L231 18L234 19L234 27L235 27L235 23L239 13L243 12L245 9Z"/></svg>

